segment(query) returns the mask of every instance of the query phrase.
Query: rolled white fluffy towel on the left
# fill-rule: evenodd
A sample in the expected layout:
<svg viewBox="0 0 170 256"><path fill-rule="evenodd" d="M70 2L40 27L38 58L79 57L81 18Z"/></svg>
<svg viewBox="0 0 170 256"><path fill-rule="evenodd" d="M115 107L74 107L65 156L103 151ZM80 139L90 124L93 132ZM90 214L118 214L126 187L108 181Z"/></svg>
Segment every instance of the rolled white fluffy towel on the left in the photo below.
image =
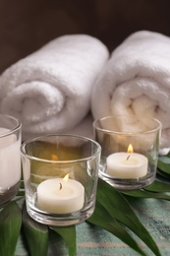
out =
<svg viewBox="0 0 170 256"><path fill-rule="evenodd" d="M21 120L24 140L78 129L108 57L107 47L87 34L50 41L1 75L0 112Z"/></svg>

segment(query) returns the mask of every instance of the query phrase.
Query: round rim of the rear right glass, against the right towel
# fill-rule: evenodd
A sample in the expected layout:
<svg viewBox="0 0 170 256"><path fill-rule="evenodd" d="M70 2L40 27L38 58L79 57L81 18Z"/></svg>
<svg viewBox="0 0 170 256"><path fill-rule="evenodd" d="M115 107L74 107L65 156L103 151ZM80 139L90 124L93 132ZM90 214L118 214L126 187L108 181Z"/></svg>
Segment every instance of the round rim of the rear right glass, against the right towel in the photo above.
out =
<svg viewBox="0 0 170 256"><path fill-rule="evenodd" d="M153 120L153 121L155 121L155 123L157 123L157 126L155 128L152 128L152 129L149 129L149 130L148 129L146 129L146 130L138 130L137 132L135 132L135 131L132 131L132 132L131 131L115 131L115 130L109 130L109 129L105 129L105 128L101 128L101 127L97 127L96 126L96 123L101 121L101 120L108 119L108 118L114 118L114 117L121 117L121 116L123 117L125 115L108 115L108 116L104 116L104 117L98 118L98 119L93 121L92 126L93 126L94 129L96 129L98 131L102 131L102 132L108 133L108 134L114 133L114 134L119 134L119 135L122 134L122 135L126 135L126 136L136 136L139 133L141 133L141 134L149 134L149 133L155 132L155 131L157 131L157 130L162 128L162 123L158 119L156 119L154 117L153 118L146 117L146 118L148 118L150 120ZM133 115L130 115L130 116L133 116Z"/></svg>

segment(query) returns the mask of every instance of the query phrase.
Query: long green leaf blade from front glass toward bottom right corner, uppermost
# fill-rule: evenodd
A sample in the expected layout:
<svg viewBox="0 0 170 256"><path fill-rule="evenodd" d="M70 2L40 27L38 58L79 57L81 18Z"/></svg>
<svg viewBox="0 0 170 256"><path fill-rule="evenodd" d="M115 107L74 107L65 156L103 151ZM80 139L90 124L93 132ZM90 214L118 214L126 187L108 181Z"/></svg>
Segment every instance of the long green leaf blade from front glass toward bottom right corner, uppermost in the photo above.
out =
<svg viewBox="0 0 170 256"><path fill-rule="evenodd" d="M151 235L142 225L126 198L119 191L99 179L96 200L113 218L125 224L136 233L155 255L160 255L160 251Z"/></svg>

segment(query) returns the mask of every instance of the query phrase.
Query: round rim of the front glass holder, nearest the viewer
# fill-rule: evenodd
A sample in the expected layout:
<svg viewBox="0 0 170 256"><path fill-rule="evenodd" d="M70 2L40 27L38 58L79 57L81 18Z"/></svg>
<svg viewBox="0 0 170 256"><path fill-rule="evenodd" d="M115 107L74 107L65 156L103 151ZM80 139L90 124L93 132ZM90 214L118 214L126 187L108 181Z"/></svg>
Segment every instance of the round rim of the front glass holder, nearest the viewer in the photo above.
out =
<svg viewBox="0 0 170 256"><path fill-rule="evenodd" d="M43 139L45 137L52 137L52 136L63 136L63 137L75 137L75 138L80 138L82 140L85 140L85 141L88 141L88 142L91 142L93 145L96 146L96 151L95 153L92 155L92 156L89 156L89 157L86 157L86 158L82 158L82 159L76 159L76 160L45 160L45 159L40 159L40 158L36 158L36 157L33 157L33 156L29 156L25 151L24 151L24 148L28 145L28 143L30 142L33 142L33 141L37 141L39 139ZM99 145L99 143L97 143L96 141L90 139L90 138L87 138L85 136L81 136L81 135L75 135L75 134L48 134L48 135L44 135L44 136L39 136L39 137L35 137L35 138L32 138L32 139L28 139L26 142L24 142L21 146L21 155L22 156L25 156L28 158L28 160L40 160L40 161L43 161L43 162L53 162L53 163L68 163L68 162L80 162L80 161L85 161L85 160L92 160L94 158L96 158L99 154L101 153L101 146Z"/></svg>

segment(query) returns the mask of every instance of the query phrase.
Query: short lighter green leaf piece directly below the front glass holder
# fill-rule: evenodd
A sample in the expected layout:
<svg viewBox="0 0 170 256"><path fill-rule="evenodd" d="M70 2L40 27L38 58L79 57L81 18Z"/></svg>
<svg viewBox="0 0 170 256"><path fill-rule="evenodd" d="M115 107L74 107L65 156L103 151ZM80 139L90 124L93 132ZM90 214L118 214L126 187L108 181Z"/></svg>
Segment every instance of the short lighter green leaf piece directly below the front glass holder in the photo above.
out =
<svg viewBox="0 0 170 256"><path fill-rule="evenodd" d="M77 244L76 244L76 225L70 226L50 226L52 230L57 232L65 240L70 256L77 255Z"/></svg>

